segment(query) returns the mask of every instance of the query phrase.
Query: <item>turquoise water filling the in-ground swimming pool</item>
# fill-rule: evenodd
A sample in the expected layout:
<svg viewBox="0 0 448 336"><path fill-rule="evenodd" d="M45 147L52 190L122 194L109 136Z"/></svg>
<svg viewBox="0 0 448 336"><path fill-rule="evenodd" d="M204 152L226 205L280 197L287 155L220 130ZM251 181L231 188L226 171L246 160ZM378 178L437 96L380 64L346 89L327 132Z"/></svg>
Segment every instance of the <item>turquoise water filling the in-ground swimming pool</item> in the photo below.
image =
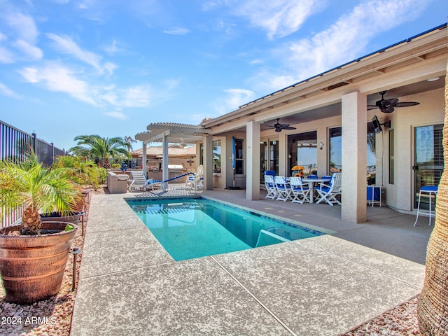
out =
<svg viewBox="0 0 448 336"><path fill-rule="evenodd" d="M323 235L202 198L127 203L177 261Z"/></svg>

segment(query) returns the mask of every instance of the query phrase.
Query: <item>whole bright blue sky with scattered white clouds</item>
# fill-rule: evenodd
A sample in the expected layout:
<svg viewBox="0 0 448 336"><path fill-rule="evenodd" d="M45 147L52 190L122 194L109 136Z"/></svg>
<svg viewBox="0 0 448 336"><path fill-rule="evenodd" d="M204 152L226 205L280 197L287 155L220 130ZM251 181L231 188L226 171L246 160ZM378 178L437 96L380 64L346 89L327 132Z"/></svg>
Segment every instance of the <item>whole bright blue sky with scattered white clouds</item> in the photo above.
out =
<svg viewBox="0 0 448 336"><path fill-rule="evenodd" d="M197 125L447 14L446 0L0 0L0 120L65 149Z"/></svg>

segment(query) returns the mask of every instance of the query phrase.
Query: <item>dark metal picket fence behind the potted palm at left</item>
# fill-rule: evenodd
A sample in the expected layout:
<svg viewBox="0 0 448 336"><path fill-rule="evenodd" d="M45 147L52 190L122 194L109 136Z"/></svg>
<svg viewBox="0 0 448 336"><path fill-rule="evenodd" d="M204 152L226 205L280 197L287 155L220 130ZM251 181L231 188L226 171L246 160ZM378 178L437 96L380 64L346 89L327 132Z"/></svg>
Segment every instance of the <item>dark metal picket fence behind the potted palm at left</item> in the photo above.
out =
<svg viewBox="0 0 448 336"><path fill-rule="evenodd" d="M57 156L66 155L64 150L56 148L54 144L38 139L36 133L28 134L0 120L0 160L23 162L30 151L34 151L38 160L46 166L52 165ZM0 211L4 214L4 209ZM1 216L0 227L17 222L22 217L22 212L20 207L8 216Z"/></svg>

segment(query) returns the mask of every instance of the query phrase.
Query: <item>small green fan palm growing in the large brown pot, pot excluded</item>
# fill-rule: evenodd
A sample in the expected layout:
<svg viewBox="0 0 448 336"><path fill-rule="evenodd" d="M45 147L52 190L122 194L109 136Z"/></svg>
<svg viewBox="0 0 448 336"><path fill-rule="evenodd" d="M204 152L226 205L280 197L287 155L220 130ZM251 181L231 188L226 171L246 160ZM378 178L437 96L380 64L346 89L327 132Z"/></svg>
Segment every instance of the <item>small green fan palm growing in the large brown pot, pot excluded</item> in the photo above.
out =
<svg viewBox="0 0 448 336"><path fill-rule="evenodd" d="M67 214L82 200L79 186L71 181L68 169L48 169L34 153L25 162L0 161L0 217L18 207L22 214L20 235L38 235L40 211Z"/></svg>

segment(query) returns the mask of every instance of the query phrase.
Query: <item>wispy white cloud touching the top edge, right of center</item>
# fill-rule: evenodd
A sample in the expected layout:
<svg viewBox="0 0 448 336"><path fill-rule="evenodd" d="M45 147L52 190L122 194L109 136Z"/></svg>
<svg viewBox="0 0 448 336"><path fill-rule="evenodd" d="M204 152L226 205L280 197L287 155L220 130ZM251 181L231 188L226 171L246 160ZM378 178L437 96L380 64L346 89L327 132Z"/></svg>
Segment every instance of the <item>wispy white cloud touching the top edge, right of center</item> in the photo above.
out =
<svg viewBox="0 0 448 336"><path fill-rule="evenodd" d="M272 39L293 34L326 3L324 0L248 0L233 5L237 15L248 18L253 26L265 29L268 38Z"/></svg>

